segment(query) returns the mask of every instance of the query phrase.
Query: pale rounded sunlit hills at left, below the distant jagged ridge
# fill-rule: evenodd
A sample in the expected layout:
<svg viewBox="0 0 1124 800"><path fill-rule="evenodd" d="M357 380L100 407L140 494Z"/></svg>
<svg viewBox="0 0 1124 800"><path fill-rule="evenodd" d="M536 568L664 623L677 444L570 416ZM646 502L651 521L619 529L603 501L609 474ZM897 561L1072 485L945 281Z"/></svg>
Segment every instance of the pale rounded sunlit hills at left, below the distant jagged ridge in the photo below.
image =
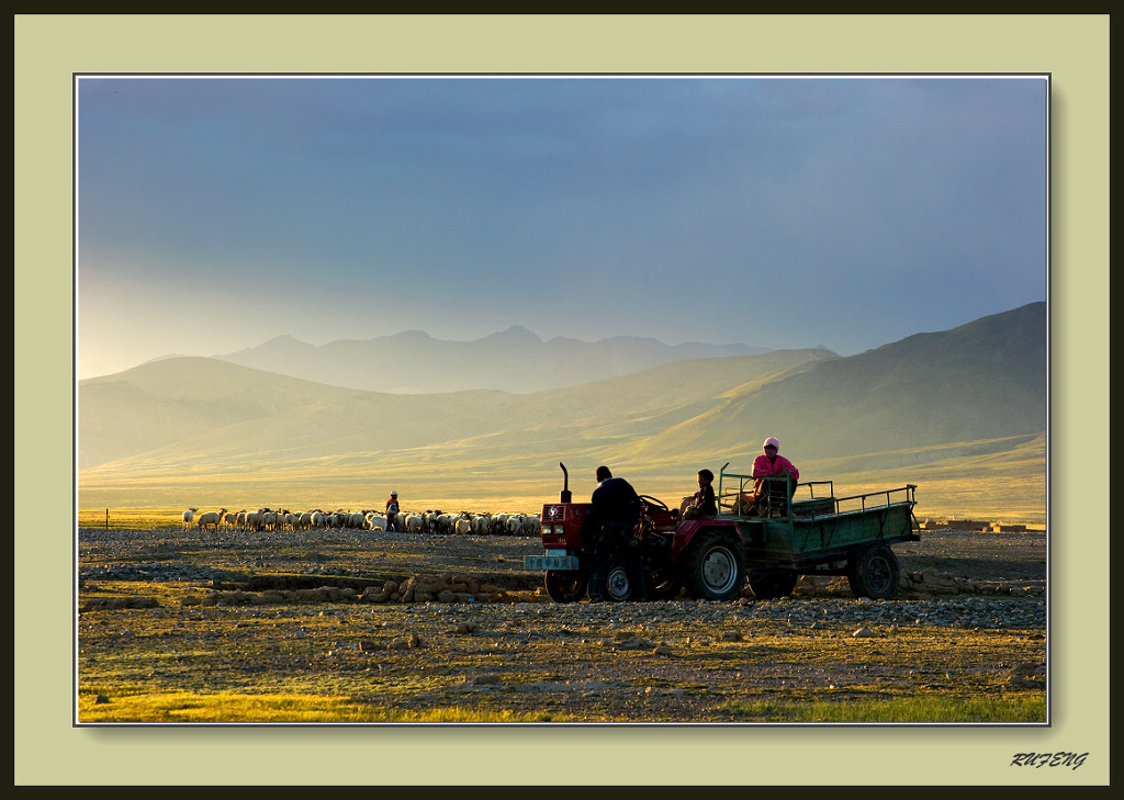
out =
<svg viewBox="0 0 1124 800"><path fill-rule="evenodd" d="M581 439L587 427L623 435L637 422L647 425L653 413L674 419L692 415L749 374L800 369L825 357L837 356L778 351L703 360L695 363L689 380L682 379L679 364L669 364L532 394L471 390L418 396L343 389L217 360L165 360L80 383L80 427L90 431L89 438L84 433L80 437L80 466L115 461L123 467L179 464L190 470L200 462L248 464L251 455L268 460L271 453L315 458L360 452L373 457L475 437L500 447L510 433L525 446L536 436L558 440L560 431ZM121 404L127 391L135 402ZM210 426L196 413L199 398L206 396L212 396ZM130 421L154 416L163 420L162 428L137 430ZM99 452L99 446L105 449Z"/></svg>

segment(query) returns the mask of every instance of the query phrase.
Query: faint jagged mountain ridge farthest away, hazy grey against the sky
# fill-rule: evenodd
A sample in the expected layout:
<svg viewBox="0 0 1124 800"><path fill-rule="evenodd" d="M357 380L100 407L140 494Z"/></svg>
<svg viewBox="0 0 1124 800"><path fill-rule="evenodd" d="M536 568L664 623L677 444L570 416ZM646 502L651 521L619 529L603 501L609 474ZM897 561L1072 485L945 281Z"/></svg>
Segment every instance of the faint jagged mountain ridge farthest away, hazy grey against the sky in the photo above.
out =
<svg viewBox="0 0 1124 800"><path fill-rule="evenodd" d="M333 385L420 394L482 388L529 393L679 361L767 352L764 347L741 344L672 346L629 336L599 342L555 337L544 342L522 326L511 326L472 342L435 339L419 330L373 339L337 339L320 346L279 336L215 357Z"/></svg>

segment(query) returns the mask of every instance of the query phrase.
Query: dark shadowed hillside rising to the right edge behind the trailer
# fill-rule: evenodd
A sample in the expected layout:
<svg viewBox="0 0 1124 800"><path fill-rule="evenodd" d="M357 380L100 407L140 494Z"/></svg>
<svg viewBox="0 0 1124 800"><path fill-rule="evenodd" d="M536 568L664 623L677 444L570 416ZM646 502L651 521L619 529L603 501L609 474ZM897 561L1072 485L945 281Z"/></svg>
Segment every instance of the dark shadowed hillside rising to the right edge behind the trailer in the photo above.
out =
<svg viewBox="0 0 1124 800"><path fill-rule="evenodd" d="M1045 321L1045 303L1032 303L824 361L734 393L705 425L663 431L631 455L705 453L731 430L771 431L818 458L1039 434L1046 429Z"/></svg>

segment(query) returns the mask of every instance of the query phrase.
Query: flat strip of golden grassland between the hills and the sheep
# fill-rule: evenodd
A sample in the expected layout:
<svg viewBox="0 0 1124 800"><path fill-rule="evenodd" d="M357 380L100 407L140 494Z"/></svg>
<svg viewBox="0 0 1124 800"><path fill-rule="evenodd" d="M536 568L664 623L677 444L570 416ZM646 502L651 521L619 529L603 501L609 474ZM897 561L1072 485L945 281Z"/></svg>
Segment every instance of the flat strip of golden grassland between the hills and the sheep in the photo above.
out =
<svg viewBox="0 0 1124 800"><path fill-rule="evenodd" d="M563 473L558 463L546 467L537 464L535 469L527 464L495 464L487 469L464 464L445 474L423 467L396 469L392 474L374 467L362 473L289 467L264 474L224 475L153 471L144 479L82 474L78 497L81 519L97 520L100 513L102 525L107 509L111 517L127 515L128 509L169 513L174 517L170 521L179 521L183 510L191 507L201 511L379 509L391 490L399 492L407 511L537 513L544 502L559 498ZM575 499L587 499L593 489L595 467L590 464L569 464L569 488ZM1041 447L1001 457L949 458L887 470L843 472L840 466L834 462L801 465L801 479L832 480L836 497L913 483L917 485L918 519L981 519L1036 529L1045 527L1046 466ZM714 464L713 469L717 474L722 464ZM642 494L677 506L680 498L697 490L696 471L683 467L670 474L664 469L615 472L628 478ZM727 469L735 471L736 464ZM749 472L747 462L744 471Z"/></svg>

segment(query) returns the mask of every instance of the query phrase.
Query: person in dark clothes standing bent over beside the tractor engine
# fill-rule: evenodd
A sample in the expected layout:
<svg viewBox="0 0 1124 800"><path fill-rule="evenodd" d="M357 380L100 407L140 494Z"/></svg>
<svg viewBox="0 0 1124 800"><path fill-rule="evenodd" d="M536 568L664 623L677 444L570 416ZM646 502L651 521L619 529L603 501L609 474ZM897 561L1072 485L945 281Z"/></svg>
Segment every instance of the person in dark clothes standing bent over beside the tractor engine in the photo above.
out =
<svg viewBox="0 0 1124 800"><path fill-rule="evenodd" d="M614 478L607 466L597 467L597 481L583 528L593 539L595 567L591 580L598 580L598 565L604 565L610 556L620 554L632 584L628 599L646 600L644 562L635 536L644 502L628 481Z"/></svg>

